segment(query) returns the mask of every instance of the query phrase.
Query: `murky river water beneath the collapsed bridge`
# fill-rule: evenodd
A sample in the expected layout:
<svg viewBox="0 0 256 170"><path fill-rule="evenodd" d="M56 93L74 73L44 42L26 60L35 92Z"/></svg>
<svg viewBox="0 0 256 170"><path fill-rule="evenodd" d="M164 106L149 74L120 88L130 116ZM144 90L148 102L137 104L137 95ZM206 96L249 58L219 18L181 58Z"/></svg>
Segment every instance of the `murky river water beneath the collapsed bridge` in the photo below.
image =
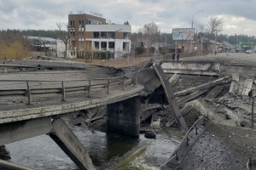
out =
<svg viewBox="0 0 256 170"><path fill-rule="evenodd" d="M81 127L73 127L73 131L89 151L96 167L101 167L113 157L123 156L128 150L143 142L147 144L146 151L122 169L154 170L172 155L178 144L177 139L170 138L173 131L166 129L164 133L157 135L157 139L145 139L143 134L139 139L131 139L98 131L91 132ZM176 136L175 132L173 134ZM10 161L26 167L49 170L79 169L47 135L7 144L6 148L11 154Z"/></svg>

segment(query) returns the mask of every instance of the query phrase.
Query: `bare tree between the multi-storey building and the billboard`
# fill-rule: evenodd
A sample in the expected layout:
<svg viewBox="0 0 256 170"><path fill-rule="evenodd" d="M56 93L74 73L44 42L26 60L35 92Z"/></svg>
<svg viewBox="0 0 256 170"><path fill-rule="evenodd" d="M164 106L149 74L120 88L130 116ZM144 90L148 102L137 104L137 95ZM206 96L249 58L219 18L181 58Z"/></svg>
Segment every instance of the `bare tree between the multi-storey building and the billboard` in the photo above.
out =
<svg viewBox="0 0 256 170"><path fill-rule="evenodd" d="M148 49L154 44L154 42L157 42L157 39L160 35L160 29L159 27L152 21L148 24L145 24L143 28L139 30L139 33L143 34L143 41L147 45L147 54Z"/></svg>

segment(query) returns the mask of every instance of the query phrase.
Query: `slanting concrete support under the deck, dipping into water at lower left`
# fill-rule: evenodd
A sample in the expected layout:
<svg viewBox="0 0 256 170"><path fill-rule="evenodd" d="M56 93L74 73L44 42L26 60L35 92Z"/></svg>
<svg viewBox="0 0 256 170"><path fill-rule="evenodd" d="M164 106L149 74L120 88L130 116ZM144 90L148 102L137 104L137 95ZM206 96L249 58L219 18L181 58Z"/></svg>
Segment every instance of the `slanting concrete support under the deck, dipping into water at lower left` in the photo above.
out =
<svg viewBox="0 0 256 170"><path fill-rule="evenodd" d="M56 119L53 122L53 129L49 136L80 169L96 170L84 145L79 142L79 139L62 119Z"/></svg>

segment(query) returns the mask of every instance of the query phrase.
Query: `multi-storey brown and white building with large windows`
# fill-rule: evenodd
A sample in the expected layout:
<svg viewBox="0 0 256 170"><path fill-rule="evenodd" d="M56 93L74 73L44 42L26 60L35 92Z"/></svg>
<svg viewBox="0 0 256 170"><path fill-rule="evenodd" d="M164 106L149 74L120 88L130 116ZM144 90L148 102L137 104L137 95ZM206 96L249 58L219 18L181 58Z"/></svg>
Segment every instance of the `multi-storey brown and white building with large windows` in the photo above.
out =
<svg viewBox="0 0 256 170"><path fill-rule="evenodd" d="M106 23L106 19L90 14L69 14L68 56L76 58L86 53L106 52L108 58L131 53L131 26Z"/></svg>

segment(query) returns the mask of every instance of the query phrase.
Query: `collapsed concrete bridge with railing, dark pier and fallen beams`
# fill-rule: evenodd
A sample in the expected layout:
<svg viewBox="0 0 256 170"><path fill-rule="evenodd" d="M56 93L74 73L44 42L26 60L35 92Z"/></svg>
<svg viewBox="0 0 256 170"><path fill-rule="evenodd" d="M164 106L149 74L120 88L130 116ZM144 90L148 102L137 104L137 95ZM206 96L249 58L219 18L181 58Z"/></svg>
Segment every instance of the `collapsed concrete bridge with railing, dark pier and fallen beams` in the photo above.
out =
<svg viewBox="0 0 256 170"><path fill-rule="evenodd" d="M49 137L81 169L96 169L87 150L67 124L62 121L61 116L107 105L108 133L138 136L141 118L140 96L144 95L145 88L148 87L148 84L141 80L145 76L142 76L141 73L147 70L151 71L151 76L148 79L152 75L157 77L167 103L172 107L177 123L184 132L187 132L188 126L179 109L179 103L194 99L204 90L228 81L224 77L199 87L174 93L172 82L175 81L175 77L168 79L165 72L174 75L178 73L218 76L219 65L207 63L190 67L191 65L186 63L186 68L181 71L176 67L184 68L182 63L180 65L172 62L157 64L151 61L143 65L140 70L128 72L123 76L90 79L66 77L61 80L50 80L49 77L46 77L44 80L41 78L37 80L19 78L19 74L14 73L9 78L0 80L0 145L49 134ZM8 67L8 65L4 66ZM197 69L189 70L189 67ZM23 65L22 68L33 69L34 67ZM29 74L32 73L27 73L27 75ZM184 94L188 95L183 99L175 98L175 96ZM15 166L6 162L2 162L2 164L6 167Z"/></svg>

